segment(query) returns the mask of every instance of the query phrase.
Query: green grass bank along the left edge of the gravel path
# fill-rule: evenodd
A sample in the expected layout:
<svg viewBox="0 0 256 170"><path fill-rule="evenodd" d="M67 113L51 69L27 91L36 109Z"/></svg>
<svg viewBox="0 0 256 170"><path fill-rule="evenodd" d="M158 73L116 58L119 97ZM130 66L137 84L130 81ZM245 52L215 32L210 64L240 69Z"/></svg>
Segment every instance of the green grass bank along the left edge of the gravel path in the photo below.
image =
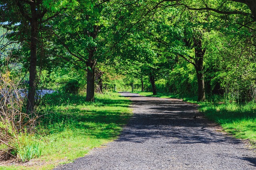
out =
<svg viewBox="0 0 256 170"><path fill-rule="evenodd" d="M36 132L20 137L25 148L20 153L25 154L26 146L36 143L42 150L41 156L0 169L50 170L116 139L132 114L130 100L118 93L97 94L94 103L85 99L85 95L60 93L46 96L38 108L42 117Z"/></svg>

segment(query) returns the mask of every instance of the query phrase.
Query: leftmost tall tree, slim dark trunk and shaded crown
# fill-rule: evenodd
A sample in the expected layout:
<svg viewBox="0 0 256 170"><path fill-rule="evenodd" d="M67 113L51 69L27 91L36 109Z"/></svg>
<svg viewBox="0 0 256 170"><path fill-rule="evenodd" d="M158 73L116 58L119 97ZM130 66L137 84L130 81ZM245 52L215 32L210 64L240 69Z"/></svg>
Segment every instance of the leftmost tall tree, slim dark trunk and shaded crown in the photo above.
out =
<svg viewBox="0 0 256 170"><path fill-rule="evenodd" d="M35 105L38 31L48 11L44 3L44 0L3 0L0 4L2 8L0 12L1 16L3 16L2 22L6 23L5 27L8 27L10 30L13 27L20 27L20 30L26 31L28 29L29 32L25 33L30 33L28 37L30 44L30 68L27 102L27 111L30 113L34 111Z"/></svg>

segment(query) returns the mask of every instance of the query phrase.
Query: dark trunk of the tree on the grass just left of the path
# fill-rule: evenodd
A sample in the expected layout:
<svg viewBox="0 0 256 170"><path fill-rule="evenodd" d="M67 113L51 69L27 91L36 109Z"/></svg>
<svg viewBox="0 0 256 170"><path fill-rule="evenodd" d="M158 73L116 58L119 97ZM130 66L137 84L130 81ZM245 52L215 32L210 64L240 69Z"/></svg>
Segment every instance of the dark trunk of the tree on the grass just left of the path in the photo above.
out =
<svg viewBox="0 0 256 170"><path fill-rule="evenodd" d="M96 49L89 51L89 57L87 62L87 88L86 88L86 101L94 102L94 90L95 90L95 65L94 52Z"/></svg>

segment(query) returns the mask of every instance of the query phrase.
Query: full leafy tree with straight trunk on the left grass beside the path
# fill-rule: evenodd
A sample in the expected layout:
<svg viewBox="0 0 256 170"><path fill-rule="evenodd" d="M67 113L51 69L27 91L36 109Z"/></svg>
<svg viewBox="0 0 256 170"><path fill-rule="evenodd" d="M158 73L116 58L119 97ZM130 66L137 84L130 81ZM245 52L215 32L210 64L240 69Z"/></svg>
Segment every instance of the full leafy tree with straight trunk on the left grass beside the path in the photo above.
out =
<svg viewBox="0 0 256 170"><path fill-rule="evenodd" d="M109 56L108 42L115 0L77 1L72 10L60 13L51 28L58 45L56 56L87 71L86 101L94 101L97 63ZM69 23L68 25L66 23Z"/></svg>

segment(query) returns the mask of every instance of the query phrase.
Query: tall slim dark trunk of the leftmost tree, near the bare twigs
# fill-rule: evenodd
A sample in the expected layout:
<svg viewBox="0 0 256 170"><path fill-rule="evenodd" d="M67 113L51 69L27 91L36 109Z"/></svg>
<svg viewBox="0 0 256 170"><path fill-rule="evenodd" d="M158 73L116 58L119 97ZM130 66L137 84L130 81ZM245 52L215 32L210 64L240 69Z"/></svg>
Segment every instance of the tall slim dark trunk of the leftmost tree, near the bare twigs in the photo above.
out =
<svg viewBox="0 0 256 170"><path fill-rule="evenodd" d="M38 35L38 18L36 17L35 3L31 3L32 19L31 24L31 44L30 44L30 69L29 69L29 89L27 112L32 113L35 106L36 93L36 60L37 60L37 35Z"/></svg>

